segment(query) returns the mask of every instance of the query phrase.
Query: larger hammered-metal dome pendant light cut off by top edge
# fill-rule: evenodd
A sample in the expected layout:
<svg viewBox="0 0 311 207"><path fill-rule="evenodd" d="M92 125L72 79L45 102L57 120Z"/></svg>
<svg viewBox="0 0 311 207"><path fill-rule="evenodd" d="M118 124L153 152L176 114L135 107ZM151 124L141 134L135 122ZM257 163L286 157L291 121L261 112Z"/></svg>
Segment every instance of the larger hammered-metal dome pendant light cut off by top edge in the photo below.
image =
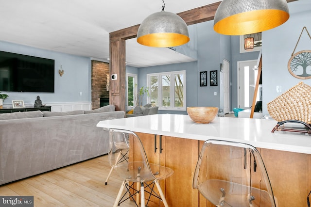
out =
<svg viewBox="0 0 311 207"><path fill-rule="evenodd" d="M286 0L223 0L214 17L214 31L243 35L275 28L289 18Z"/></svg>

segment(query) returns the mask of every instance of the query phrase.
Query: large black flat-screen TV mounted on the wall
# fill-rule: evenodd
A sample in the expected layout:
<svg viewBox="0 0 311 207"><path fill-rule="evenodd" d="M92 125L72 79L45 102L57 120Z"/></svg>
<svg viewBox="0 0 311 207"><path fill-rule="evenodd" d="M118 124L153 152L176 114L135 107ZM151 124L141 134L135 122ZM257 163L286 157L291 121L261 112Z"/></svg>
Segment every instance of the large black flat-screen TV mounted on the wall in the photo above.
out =
<svg viewBox="0 0 311 207"><path fill-rule="evenodd" d="M54 60L0 51L0 91L54 93Z"/></svg>

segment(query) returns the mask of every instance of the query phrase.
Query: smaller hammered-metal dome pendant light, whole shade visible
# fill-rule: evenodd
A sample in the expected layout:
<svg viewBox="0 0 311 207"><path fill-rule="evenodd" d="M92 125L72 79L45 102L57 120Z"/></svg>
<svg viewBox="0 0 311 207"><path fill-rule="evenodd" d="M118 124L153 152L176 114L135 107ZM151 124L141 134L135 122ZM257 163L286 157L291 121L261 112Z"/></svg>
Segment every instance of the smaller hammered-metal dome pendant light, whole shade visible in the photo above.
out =
<svg viewBox="0 0 311 207"><path fill-rule="evenodd" d="M185 21L178 15L164 11L147 16L140 24L137 42L141 45L159 48L180 46L189 42L189 32Z"/></svg>

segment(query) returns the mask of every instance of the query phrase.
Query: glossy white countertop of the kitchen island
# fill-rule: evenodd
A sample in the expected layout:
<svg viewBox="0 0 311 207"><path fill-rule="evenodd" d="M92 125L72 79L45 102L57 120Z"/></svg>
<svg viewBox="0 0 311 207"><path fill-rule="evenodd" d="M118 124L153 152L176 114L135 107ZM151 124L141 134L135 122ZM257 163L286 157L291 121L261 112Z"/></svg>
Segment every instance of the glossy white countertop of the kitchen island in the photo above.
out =
<svg viewBox="0 0 311 207"><path fill-rule="evenodd" d="M255 147L311 154L311 135L284 131L272 133L276 124L275 120L235 117L216 117L209 124L196 124L188 115L154 114L100 121L97 127L203 141L235 141Z"/></svg>

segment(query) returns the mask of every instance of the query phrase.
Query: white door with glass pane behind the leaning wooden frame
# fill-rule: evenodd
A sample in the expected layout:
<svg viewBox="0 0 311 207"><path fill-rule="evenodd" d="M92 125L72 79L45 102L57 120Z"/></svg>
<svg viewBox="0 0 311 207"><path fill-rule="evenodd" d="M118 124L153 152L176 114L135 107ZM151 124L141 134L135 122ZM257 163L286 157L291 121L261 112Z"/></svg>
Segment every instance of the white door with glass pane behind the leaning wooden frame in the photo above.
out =
<svg viewBox="0 0 311 207"><path fill-rule="evenodd" d="M257 60L238 62L238 108L250 109L253 102L258 70ZM258 100L260 93L257 94Z"/></svg>

